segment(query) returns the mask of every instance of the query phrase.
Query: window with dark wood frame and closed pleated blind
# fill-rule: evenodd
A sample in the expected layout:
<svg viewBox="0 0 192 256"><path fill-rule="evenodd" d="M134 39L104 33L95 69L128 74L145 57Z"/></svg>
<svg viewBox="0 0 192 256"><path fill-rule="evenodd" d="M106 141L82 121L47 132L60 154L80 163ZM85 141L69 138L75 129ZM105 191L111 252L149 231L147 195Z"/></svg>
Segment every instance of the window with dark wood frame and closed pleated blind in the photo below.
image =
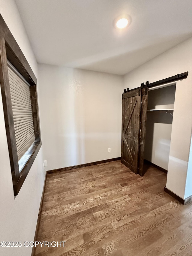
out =
<svg viewBox="0 0 192 256"><path fill-rule="evenodd" d="M0 84L14 194L41 147L37 80L0 15Z"/></svg>

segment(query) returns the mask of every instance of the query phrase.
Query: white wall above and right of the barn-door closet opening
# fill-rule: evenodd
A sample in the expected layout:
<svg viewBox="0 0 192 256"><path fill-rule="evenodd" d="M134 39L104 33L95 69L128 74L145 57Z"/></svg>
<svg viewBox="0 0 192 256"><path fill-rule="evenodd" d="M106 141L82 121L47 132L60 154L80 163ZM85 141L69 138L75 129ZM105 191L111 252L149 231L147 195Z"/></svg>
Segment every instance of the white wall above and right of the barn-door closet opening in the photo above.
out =
<svg viewBox="0 0 192 256"><path fill-rule="evenodd" d="M189 71L187 79L178 81L176 85L166 184L168 189L182 198L186 197L186 177L190 177L192 172L190 168L187 170L192 127L192 38L126 74L122 88L135 88L143 82L152 83L185 71ZM187 188L187 195L191 195L192 186Z"/></svg>

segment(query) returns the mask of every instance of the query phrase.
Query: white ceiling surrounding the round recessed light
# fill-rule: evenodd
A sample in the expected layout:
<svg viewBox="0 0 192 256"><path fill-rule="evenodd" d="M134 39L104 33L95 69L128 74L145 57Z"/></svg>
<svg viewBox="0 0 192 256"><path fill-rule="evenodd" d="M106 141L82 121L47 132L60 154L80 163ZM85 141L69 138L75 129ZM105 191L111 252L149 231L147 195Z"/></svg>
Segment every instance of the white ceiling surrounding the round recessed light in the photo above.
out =
<svg viewBox="0 0 192 256"><path fill-rule="evenodd" d="M15 1L40 63L123 75L192 36L191 0Z"/></svg>

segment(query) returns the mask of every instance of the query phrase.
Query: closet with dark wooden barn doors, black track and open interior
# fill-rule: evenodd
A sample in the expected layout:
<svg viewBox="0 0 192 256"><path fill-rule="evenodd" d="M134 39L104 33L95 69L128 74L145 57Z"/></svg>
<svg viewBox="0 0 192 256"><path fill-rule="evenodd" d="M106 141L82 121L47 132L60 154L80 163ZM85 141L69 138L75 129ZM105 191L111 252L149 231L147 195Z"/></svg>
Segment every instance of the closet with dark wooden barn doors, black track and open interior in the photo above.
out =
<svg viewBox="0 0 192 256"><path fill-rule="evenodd" d="M144 159L168 170L176 81L187 75L124 90L121 161L134 173L145 174Z"/></svg>

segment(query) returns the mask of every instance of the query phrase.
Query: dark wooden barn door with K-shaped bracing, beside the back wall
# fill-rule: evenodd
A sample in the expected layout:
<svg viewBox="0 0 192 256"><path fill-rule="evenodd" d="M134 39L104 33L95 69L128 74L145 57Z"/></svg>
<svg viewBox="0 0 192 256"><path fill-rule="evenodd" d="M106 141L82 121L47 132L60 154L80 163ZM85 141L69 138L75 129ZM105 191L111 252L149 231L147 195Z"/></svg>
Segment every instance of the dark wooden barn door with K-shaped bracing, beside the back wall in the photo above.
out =
<svg viewBox="0 0 192 256"><path fill-rule="evenodd" d="M121 161L134 173L138 169L141 89L122 94Z"/></svg>

